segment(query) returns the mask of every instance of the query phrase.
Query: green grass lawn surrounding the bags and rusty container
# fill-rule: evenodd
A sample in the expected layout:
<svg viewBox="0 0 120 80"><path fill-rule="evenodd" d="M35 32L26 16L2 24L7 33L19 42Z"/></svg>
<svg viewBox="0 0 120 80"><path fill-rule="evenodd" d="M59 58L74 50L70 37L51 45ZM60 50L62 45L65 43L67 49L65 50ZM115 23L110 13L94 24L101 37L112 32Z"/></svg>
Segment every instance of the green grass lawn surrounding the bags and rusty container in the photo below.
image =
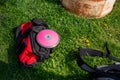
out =
<svg viewBox="0 0 120 80"><path fill-rule="evenodd" d="M18 64L13 29L34 17L57 31L61 40L44 63L23 68ZM77 17L66 11L59 0L0 0L0 80L87 80L88 73L76 64L77 49L105 51L106 41L112 55L120 58L120 0L101 19ZM91 66L109 64L102 58L86 61Z"/></svg>

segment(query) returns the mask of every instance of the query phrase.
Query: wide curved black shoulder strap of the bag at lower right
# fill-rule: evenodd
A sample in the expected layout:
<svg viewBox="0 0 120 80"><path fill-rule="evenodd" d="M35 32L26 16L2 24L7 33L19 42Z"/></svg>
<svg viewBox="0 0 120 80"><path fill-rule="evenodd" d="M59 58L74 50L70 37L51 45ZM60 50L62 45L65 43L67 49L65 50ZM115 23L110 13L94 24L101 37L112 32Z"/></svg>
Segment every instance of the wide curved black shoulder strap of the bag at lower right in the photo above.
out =
<svg viewBox="0 0 120 80"><path fill-rule="evenodd" d="M81 67L83 70L88 71L88 72L96 72L94 68L89 66L84 60L82 59L82 56L103 56L103 53L97 50L93 49L88 49L88 48L80 48L79 49L79 54L77 56L77 64L79 67Z"/></svg>

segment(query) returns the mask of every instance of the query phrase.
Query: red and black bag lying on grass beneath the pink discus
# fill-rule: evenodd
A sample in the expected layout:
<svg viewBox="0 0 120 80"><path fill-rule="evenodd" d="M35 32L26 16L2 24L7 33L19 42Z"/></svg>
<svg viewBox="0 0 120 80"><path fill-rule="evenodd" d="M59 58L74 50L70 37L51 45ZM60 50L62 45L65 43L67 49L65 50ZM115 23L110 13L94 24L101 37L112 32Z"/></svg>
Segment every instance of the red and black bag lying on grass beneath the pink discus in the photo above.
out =
<svg viewBox="0 0 120 80"><path fill-rule="evenodd" d="M42 20L33 19L23 23L16 29L16 48L19 53L19 61L24 66L33 66L49 58L52 48L44 48L36 41L38 32L48 29L48 25Z"/></svg>

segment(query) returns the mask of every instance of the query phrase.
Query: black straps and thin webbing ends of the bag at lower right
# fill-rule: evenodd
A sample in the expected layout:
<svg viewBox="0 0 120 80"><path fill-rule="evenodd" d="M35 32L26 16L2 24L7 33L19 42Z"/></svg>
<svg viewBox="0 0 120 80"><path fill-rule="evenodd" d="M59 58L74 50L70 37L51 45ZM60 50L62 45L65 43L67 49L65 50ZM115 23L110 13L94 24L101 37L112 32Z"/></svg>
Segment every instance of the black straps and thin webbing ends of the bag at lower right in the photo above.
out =
<svg viewBox="0 0 120 80"><path fill-rule="evenodd" d="M93 67L89 66L86 62L84 62L84 60L82 59L82 56L106 57L106 58L109 58L110 60L120 62L120 59L118 59L118 58L116 58L116 57L114 57L110 54L110 50L108 49L107 44L106 44L106 50L107 50L107 53L103 53L101 51L93 50L93 49L89 49L89 48L80 48L79 49L79 54L77 56L78 66L81 67L82 69L84 69L85 71L90 72L90 73L101 71L99 69L96 69L96 68L93 68ZM114 68L114 67L112 66L112 68ZM111 68L109 68L109 69L111 69Z"/></svg>

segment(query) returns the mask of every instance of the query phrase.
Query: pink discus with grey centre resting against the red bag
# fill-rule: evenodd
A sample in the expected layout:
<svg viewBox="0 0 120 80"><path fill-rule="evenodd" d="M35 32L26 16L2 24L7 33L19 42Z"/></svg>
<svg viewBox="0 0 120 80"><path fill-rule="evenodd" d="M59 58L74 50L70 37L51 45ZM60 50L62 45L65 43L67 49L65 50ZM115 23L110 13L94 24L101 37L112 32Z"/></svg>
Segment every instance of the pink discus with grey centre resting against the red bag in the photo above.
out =
<svg viewBox="0 0 120 80"><path fill-rule="evenodd" d="M53 48L59 43L59 35L50 29L40 31L36 38L37 42L46 48Z"/></svg>

